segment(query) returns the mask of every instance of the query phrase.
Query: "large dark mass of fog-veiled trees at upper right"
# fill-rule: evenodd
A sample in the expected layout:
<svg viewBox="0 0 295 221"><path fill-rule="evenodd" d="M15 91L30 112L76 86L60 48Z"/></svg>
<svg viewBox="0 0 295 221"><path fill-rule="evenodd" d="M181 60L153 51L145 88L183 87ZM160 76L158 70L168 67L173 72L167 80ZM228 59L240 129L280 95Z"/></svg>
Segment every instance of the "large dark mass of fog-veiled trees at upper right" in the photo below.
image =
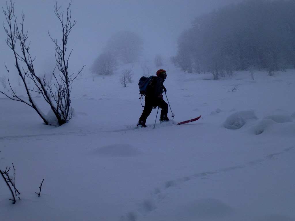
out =
<svg viewBox="0 0 295 221"><path fill-rule="evenodd" d="M173 63L214 79L235 70L295 67L295 1L248 0L196 17L178 37Z"/></svg>

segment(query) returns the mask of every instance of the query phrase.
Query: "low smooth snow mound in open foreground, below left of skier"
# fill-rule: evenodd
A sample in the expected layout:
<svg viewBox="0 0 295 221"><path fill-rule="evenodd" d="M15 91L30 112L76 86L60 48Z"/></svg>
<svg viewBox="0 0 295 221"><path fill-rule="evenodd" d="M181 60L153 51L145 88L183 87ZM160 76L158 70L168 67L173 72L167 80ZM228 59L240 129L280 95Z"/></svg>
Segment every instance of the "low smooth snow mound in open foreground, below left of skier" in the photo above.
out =
<svg viewBox="0 0 295 221"><path fill-rule="evenodd" d="M130 144L112 144L94 150L94 154L100 156L130 157L138 156L141 152L136 150Z"/></svg>

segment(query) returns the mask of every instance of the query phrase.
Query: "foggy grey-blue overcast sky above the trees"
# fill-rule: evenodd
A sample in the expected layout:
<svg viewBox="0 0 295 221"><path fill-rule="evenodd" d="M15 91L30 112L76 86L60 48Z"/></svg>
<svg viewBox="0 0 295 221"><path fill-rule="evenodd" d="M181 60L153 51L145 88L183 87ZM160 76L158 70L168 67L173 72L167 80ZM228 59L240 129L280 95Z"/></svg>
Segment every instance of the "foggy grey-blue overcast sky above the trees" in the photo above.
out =
<svg viewBox="0 0 295 221"><path fill-rule="evenodd" d="M176 54L177 37L191 27L194 17L237 0L73 0L72 20L77 24L69 36L68 48L73 48L73 67L82 65L89 70L94 59L102 52L113 34L128 30L144 41L144 55L153 59L156 54L170 57ZM58 0L66 11L69 0ZM6 2L1 1L6 8ZM61 39L61 26L54 14L56 0L16 0L15 14L20 22L25 14L25 29L31 41L31 54L36 57L35 68L45 72L54 67L54 45L48 36ZM1 12L1 21L5 21ZM2 26L1 26L2 27ZM0 76L6 74L4 62L10 64L12 52L5 43L6 35L0 28Z"/></svg>

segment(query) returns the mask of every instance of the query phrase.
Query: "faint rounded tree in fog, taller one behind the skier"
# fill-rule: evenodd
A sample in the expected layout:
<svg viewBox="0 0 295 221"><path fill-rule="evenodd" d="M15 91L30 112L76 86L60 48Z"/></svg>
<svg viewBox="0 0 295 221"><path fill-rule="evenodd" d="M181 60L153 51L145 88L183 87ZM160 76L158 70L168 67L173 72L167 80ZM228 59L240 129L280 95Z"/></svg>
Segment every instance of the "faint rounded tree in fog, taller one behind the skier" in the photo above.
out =
<svg viewBox="0 0 295 221"><path fill-rule="evenodd" d="M143 48L143 41L138 34L130 31L113 35L105 48L124 64L138 60Z"/></svg>

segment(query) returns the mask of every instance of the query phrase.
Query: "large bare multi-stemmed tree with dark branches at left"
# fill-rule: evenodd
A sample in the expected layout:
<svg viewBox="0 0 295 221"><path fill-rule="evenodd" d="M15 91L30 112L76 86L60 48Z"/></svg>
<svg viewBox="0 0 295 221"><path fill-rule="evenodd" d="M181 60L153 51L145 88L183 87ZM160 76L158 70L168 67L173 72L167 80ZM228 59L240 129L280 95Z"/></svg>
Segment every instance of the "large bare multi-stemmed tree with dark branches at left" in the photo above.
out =
<svg viewBox="0 0 295 221"><path fill-rule="evenodd" d="M58 7L57 3L54 6L55 15L60 21L63 34L61 44L49 35L55 44L56 66L53 70L53 78L55 80L54 82L47 80L45 75L43 77L39 77L39 75L35 72L35 58L33 58L29 52L30 43L27 43L28 31L24 30L24 13L22 13L22 21L19 25L17 22L17 17L14 14L14 3L12 0L10 0L10 4L6 2L6 10L3 9L7 22L7 26L4 25L7 35L6 43L13 51L15 67L17 68L17 72L22 79L22 83L28 98L26 100L15 93L12 85L9 82L9 69L7 67L6 70L8 83L12 90L12 94L7 95L2 91L0 92L12 100L17 100L31 106L42 118L46 125L60 126L71 119L72 108L70 93L72 89L72 83L78 74L81 73L84 67L82 67L78 74L71 74L68 72L68 61L72 51L69 54L67 53L67 43L69 34L76 24L75 20L73 22L71 21L70 6L71 1L68 5L65 17L64 13L60 12L61 7ZM35 88L31 89L28 86L30 81L34 83ZM48 103L50 109L53 111L56 117L55 122L47 119L46 115L38 108L37 104L32 98L32 93L34 92L42 94L44 100Z"/></svg>

